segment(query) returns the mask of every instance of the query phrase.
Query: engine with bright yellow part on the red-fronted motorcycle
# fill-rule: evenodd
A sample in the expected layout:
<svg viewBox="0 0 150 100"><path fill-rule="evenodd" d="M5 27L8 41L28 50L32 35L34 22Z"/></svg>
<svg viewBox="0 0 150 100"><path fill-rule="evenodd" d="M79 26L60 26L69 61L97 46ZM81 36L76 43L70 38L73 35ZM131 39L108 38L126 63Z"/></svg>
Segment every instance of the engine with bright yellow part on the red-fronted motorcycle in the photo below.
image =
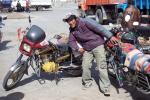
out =
<svg viewBox="0 0 150 100"><path fill-rule="evenodd" d="M57 72L59 64L70 58L69 52L59 50L54 44L36 50L35 53L40 57L40 65L44 72Z"/></svg>

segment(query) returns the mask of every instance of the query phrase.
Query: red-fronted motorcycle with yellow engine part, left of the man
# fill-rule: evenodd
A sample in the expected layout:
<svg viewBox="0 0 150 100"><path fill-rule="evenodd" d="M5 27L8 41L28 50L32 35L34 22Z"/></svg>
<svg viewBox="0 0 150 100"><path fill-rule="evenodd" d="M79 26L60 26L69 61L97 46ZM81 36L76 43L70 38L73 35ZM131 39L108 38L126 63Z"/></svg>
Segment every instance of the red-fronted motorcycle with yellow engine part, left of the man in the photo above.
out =
<svg viewBox="0 0 150 100"><path fill-rule="evenodd" d="M31 23L30 17L29 22ZM55 74L56 83L60 80L59 74L61 72L66 72L73 77L82 74L80 66L82 57L75 57L67 44L59 45L51 41L45 42L46 34L37 25L31 25L24 33L19 47L21 54L4 78L3 88L5 90L14 88L24 74L28 74L29 67L33 69L37 78L39 78L40 84L44 82L44 79L41 79L41 73ZM61 38L60 35L53 37L57 40Z"/></svg>

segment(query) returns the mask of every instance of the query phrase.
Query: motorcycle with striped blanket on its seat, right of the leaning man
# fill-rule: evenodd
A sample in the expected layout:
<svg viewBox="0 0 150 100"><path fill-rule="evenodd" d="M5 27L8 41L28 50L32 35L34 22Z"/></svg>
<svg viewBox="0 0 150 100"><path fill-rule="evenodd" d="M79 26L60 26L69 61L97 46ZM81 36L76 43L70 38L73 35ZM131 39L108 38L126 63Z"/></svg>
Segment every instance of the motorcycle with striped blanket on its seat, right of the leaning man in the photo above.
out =
<svg viewBox="0 0 150 100"><path fill-rule="evenodd" d="M119 86L132 85L142 93L150 93L150 55L144 54L143 46L133 32L119 28L111 30L118 44L105 44L108 73L116 78Z"/></svg>

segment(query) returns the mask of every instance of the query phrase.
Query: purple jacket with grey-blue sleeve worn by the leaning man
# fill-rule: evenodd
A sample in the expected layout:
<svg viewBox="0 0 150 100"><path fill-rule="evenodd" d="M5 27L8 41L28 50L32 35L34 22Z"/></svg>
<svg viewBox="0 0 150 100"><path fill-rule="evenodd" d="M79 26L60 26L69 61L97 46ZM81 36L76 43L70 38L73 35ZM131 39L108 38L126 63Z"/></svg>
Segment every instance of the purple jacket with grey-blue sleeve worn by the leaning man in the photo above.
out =
<svg viewBox="0 0 150 100"><path fill-rule="evenodd" d="M73 50L78 50L79 42L86 51L90 51L104 43L104 37L112 37L112 33L102 25L89 18L77 18L77 26L70 28L69 45Z"/></svg>

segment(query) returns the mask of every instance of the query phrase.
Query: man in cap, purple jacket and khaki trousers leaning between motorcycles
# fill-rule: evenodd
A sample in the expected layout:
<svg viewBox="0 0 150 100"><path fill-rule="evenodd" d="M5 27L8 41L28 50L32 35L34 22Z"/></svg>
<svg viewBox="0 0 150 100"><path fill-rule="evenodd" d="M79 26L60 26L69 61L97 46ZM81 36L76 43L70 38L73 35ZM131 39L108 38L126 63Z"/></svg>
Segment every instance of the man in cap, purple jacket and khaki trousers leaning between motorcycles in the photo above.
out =
<svg viewBox="0 0 150 100"><path fill-rule="evenodd" d="M65 16L63 21L67 22L70 26L70 47L83 54L82 82L84 88L89 88L92 85L90 68L92 66L92 61L95 58L99 70L99 85L101 91L105 96L110 96L110 81L107 73L103 44L104 38L110 39L112 42L117 42L117 39L112 36L112 33L92 19L81 19L76 15L69 13ZM82 48L81 46L79 47L77 43L79 43Z"/></svg>

